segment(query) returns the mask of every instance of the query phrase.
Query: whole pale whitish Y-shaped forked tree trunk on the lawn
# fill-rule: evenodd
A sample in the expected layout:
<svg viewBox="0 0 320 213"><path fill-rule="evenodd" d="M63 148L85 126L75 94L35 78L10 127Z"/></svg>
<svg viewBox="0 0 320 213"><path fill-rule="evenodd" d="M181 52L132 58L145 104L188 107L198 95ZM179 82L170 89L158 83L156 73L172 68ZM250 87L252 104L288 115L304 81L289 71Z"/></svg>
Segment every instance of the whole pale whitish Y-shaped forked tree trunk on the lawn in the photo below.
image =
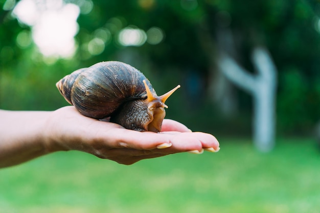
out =
<svg viewBox="0 0 320 213"><path fill-rule="evenodd" d="M267 50L256 47L252 61L258 74L251 74L226 54L217 64L222 73L254 98L253 135L255 146L263 152L275 146L276 67Z"/></svg>

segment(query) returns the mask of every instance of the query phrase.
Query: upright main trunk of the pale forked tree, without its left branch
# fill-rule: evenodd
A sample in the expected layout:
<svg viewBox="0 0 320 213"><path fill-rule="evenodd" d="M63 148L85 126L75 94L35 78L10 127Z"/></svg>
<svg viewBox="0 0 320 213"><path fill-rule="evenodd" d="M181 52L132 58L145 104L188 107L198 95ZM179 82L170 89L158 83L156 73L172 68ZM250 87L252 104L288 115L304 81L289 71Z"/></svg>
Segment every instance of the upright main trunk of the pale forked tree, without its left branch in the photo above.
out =
<svg viewBox="0 0 320 213"><path fill-rule="evenodd" d="M269 151L275 146L276 133L276 68L268 52L258 47L252 57L257 76L254 97L254 141L261 151Z"/></svg>

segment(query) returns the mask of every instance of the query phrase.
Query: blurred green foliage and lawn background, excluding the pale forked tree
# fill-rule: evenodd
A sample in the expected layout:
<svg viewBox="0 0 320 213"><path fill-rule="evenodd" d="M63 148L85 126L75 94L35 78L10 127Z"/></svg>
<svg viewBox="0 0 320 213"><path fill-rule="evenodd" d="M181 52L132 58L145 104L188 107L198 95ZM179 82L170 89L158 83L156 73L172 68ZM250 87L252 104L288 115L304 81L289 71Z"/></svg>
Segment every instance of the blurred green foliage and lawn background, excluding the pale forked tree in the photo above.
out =
<svg viewBox="0 0 320 213"><path fill-rule="evenodd" d="M319 3L0 0L0 109L56 110L67 105L55 87L61 77L123 61L158 95L180 84L166 117L215 135L221 147L129 167L78 152L44 156L0 171L0 211L317 212ZM253 97L217 68L225 51L256 75L257 46L277 69L268 153L253 146Z"/></svg>

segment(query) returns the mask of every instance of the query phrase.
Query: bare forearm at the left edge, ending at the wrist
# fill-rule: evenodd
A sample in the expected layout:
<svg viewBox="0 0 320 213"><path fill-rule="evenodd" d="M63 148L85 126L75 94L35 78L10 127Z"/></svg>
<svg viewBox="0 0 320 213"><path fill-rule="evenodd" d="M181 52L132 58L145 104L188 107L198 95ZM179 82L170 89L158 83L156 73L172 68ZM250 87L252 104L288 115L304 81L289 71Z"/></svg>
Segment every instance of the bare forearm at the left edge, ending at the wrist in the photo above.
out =
<svg viewBox="0 0 320 213"><path fill-rule="evenodd" d="M43 137L49 113L0 110L0 168L49 152Z"/></svg>

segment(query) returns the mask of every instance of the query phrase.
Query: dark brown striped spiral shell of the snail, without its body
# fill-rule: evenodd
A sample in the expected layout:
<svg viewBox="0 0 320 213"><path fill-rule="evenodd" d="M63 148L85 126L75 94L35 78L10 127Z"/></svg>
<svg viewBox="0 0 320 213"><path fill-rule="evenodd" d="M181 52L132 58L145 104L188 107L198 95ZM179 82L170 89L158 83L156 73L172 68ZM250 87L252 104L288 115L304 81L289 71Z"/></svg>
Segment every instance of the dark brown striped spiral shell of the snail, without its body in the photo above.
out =
<svg viewBox="0 0 320 213"><path fill-rule="evenodd" d="M143 80L156 95L142 72L122 62L108 61L66 75L57 87L82 115L103 119L127 101L146 99Z"/></svg>

